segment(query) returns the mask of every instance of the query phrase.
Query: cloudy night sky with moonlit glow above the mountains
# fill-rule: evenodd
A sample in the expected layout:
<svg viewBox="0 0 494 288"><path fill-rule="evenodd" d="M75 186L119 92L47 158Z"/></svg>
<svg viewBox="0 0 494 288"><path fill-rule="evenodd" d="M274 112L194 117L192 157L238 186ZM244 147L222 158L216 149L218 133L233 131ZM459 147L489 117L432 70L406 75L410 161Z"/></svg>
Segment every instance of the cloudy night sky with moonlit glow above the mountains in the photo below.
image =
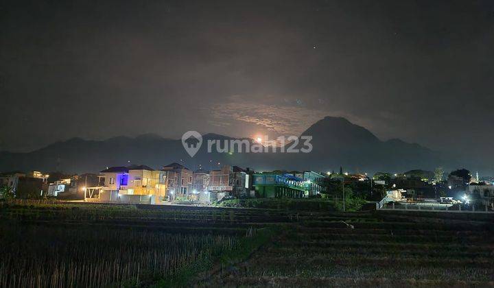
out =
<svg viewBox="0 0 494 288"><path fill-rule="evenodd" d="M0 150L330 116L494 160L494 1L3 1Z"/></svg>

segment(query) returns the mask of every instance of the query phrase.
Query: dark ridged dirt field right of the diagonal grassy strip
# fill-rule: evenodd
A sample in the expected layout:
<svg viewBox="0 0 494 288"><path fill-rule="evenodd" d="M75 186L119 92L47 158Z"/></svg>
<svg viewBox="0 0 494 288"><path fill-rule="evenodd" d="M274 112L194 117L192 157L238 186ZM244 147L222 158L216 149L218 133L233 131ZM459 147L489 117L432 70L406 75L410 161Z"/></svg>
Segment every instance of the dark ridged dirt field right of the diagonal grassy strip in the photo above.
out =
<svg viewBox="0 0 494 288"><path fill-rule="evenodd" d="M333 215L290 224L205 287L494 285L493 222ZM344 223L342 222L344 221ZM348 225L347 225L348 224Z"/></svg>

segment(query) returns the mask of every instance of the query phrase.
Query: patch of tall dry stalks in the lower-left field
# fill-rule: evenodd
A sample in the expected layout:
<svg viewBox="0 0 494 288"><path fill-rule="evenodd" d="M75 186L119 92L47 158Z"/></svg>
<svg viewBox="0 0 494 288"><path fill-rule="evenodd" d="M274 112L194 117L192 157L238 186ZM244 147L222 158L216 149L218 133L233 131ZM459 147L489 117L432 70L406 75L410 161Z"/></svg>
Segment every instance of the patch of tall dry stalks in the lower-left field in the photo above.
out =
<svg viewBox="0 0 494 288"><path fill-rule="evenodd" d="M104 287L172 276L237 237L0 225L0 287Z"/></svg>

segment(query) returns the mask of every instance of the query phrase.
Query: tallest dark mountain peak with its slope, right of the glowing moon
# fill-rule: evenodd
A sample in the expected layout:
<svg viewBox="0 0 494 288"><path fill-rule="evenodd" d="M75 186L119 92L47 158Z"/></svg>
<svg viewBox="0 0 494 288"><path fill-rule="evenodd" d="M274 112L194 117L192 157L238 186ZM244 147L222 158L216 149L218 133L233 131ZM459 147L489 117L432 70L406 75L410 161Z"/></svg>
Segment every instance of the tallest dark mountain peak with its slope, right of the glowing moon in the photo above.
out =
<svg viewBox="0 0 494 288"><path fill-rule="evenodd" d="M345 169L355 172L405 171L434 169L443 165L440 154L418 144L399 139L379 140L362 126L342 117L325 117L314 123L302 135L311 135L314 150L299 155L303 163L316 167Z"/></svg>

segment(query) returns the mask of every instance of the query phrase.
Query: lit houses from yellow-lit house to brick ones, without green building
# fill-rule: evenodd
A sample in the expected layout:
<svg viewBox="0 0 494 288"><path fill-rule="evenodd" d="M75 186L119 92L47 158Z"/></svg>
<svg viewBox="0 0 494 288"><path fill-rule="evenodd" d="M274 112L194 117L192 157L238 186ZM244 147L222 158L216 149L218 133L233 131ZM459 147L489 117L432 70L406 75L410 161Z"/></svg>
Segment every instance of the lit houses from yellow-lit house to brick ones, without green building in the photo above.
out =
<svg viewBox="0 0 494 288"><path fill-rule="evenodd" d="M152 169L146 165L108 167L99 173L99 184L86 187L87 202L139 202L160 204L169 200L221 199L226 195L247 196L250 185L248 169L225 165L205 171L171 163Z"/></svg>

